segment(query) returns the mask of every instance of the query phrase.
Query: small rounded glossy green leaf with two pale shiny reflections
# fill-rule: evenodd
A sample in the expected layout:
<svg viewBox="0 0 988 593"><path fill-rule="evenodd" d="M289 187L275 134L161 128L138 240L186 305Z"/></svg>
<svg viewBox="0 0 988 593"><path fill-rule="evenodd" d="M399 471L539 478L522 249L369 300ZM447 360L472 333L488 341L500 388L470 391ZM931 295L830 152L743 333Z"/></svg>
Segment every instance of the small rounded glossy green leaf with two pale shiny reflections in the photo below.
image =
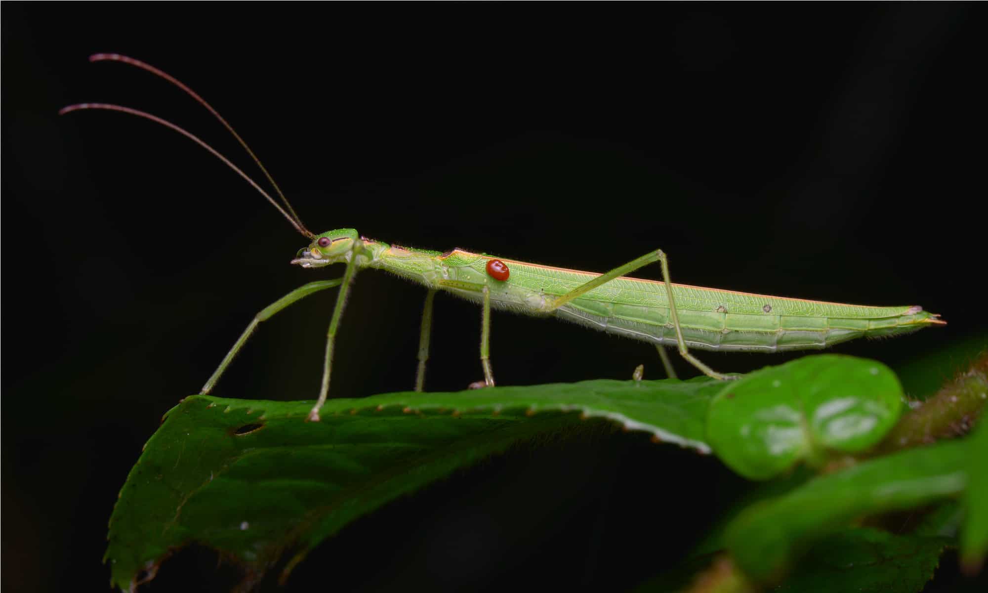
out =
<svg viewBox="0 0 988 593"><path fill-rule="evenodd" d="M901 410L902 387L881 363L803 357L724 387L710 405L706 435L727 466L767 479L829 451L876 444Z"/></svg>

